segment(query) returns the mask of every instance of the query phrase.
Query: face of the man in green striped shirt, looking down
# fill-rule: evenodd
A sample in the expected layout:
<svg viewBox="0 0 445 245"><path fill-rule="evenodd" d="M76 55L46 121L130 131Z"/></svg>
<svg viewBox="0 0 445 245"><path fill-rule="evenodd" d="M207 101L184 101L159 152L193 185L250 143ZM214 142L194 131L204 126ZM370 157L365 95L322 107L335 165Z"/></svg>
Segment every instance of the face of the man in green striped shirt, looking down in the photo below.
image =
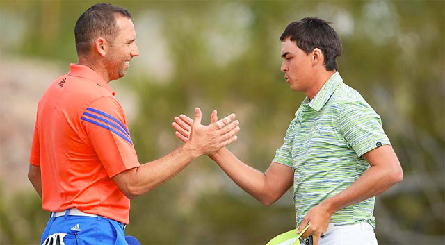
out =
<svg viewBox="0 0 445 245"><path fill-rule="evenodd" d="M281 71L291 85L292 91L307 91L312 85L314 60L312 53L305 53L298 48L296 42L287 38L282 42L281 55L283 62Z"/></svg>

